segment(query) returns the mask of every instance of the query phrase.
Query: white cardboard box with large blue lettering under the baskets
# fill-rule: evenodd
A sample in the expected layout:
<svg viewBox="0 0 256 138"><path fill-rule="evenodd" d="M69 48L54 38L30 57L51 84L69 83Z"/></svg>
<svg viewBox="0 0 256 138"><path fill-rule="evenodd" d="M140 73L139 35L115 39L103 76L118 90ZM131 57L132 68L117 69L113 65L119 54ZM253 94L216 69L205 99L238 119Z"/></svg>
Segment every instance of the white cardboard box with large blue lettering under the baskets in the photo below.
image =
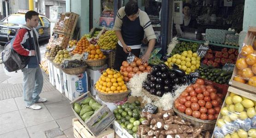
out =
<svg viewBox="0 0 256 138"><path fill-rule="evenodd" d="M63 73L65 96L73 101L88 91L87 73L70 75Z"/></svg>

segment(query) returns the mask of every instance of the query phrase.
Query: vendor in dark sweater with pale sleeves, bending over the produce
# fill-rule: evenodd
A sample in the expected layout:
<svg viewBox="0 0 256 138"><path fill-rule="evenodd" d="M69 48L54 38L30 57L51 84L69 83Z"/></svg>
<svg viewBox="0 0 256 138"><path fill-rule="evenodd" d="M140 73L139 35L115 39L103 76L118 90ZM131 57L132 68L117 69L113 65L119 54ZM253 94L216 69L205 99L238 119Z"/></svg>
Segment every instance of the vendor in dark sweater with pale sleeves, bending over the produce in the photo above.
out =
<svg viewBox="0 0 256 138"><path fill-rule="evenodd" d="M122 62L128 57L130 48L136 57L140 56L140 47L144 35L149 44L141 59L143 63L148 61L156 43L156 35L148 15L145 11L139 9L136 1L130 0L117 11L114 30L118 38L114 63L115 69L120 70Z"/></svg>

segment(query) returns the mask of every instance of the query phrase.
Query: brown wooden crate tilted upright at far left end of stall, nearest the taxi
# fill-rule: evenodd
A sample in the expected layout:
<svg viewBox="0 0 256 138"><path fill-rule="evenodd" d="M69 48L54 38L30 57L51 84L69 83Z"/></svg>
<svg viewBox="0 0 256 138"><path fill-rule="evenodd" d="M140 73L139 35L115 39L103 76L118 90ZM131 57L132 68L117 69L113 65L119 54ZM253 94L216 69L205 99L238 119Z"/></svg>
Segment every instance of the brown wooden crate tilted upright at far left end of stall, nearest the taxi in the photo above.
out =
<svg viewBox="0 0 256 138"><path fill-rule="evenodd" d="M74 12L64 12L61 14L59 21L63 21L65 17L69 17L66 24L66 29L60 30L60 29L54 28L53 31L68 34L68 35L73 35L79 15Z"/></svg>

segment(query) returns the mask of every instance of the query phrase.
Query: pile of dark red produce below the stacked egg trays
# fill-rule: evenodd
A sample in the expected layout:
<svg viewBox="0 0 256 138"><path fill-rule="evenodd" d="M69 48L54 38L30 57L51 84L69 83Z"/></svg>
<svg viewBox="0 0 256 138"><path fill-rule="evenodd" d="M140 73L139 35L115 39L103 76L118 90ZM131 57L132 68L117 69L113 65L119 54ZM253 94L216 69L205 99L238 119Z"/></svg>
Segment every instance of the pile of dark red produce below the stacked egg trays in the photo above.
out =
<svg viewBox="0 0 256 138"><path fill-rule="evenodd" d="M225 63L235 63L239 52L234 48L223 48L221 51L214 51L209 48L204 56L203 63L215 68L222 67Z"/></svg>

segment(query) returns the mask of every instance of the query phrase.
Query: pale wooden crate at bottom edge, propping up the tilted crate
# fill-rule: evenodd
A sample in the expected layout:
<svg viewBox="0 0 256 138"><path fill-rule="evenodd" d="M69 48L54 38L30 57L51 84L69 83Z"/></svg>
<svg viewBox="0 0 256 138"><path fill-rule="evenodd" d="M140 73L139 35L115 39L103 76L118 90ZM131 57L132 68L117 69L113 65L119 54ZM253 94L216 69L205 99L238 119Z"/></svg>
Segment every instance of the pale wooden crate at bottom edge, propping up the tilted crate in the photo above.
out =
<svg viewBox="0 0 256 138"><path fill-rule="evenodd" d="M86 127L82 125L78 118L73 118L73 132L75 138L114 138L115 131L108 127L104 132L101 132L97 137L93 136Z"/></svg>

